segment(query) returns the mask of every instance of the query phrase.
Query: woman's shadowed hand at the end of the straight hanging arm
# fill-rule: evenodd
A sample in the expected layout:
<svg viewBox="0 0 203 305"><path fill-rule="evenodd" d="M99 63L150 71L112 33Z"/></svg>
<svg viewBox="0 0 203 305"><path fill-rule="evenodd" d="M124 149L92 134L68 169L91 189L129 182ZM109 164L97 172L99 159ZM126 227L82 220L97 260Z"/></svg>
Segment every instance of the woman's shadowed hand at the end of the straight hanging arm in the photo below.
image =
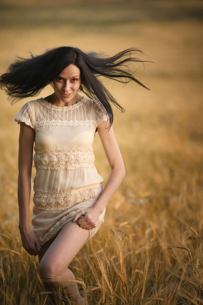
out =
<svg viewBox="0 0 203 305"><path fill-rule="evenodd" d="M27 229L26 232L24 230L20 230L20 235L22 246L30 255L38 255L42 251L37 236L31 228Z"/></svg>

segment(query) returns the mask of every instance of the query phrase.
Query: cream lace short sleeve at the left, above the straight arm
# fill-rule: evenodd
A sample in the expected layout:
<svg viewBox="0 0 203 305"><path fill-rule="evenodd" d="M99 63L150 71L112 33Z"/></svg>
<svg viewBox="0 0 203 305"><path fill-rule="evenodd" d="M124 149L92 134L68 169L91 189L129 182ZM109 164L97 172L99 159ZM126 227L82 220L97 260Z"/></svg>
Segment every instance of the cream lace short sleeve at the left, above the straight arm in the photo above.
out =
<svg viewBox="0 0 203 305"><path fill-rule="evenodd" d="M25 123L26 125L35 128L35 120L34 120L34 113L32 109L32 103L28 102L18 112L18 114L15 117L15 122L20 124L20 122Z"/></svg>

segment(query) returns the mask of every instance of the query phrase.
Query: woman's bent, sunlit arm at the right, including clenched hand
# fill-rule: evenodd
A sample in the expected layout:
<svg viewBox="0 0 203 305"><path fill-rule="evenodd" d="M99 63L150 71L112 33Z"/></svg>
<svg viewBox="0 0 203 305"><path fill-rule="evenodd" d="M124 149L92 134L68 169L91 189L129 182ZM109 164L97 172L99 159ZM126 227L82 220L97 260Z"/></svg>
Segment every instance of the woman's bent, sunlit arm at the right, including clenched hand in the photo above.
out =
<svg viewBox="0 0 203 305"><path fill-rule="evenodd" d="M94 205L75 216L74 222L78 220L78 224L83 229L92 229L96 226L99 215L103 212L106 205L119 188L126 173L123 158L115 139L112 126L109 130L107 129L107 123L103 122L97 126L97 131L111 166L111 173L103 192Z"/></svg>

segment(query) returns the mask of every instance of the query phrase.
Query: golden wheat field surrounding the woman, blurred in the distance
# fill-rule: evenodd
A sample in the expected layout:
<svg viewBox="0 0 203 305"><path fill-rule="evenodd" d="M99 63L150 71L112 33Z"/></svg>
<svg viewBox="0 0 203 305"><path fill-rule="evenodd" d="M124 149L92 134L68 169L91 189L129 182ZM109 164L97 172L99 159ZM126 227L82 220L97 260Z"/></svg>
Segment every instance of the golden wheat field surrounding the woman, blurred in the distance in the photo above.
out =
<svg viewBox="0 0 203 305"><path fill-rule="evenodd" d="M107 55L137 47L154 62L132 67L150 91L105 83L126 109L113 125L127 174L71 264L90 305L203 304L202 13L201 0L0 1L0 74L16 56L61 45ZM0 100L0 304L44 305L37 258L18 232L14 116L30 99L11 106L1 91ZM94 152L106 179L98 135Z"/></svg>

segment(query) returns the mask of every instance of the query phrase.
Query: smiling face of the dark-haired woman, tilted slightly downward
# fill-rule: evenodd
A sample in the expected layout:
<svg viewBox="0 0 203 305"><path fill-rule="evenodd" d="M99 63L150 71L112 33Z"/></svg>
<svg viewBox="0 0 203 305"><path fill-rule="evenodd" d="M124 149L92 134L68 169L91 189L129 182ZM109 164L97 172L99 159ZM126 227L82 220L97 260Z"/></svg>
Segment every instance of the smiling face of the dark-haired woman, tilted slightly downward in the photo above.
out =
<svg viewBox="0 0 203 305"><path fill-rule="evenodd" d="M77 102L77 92L81 84L80 69L74 64L66 67L53 81L54 103L70 106Z"/></svg>

